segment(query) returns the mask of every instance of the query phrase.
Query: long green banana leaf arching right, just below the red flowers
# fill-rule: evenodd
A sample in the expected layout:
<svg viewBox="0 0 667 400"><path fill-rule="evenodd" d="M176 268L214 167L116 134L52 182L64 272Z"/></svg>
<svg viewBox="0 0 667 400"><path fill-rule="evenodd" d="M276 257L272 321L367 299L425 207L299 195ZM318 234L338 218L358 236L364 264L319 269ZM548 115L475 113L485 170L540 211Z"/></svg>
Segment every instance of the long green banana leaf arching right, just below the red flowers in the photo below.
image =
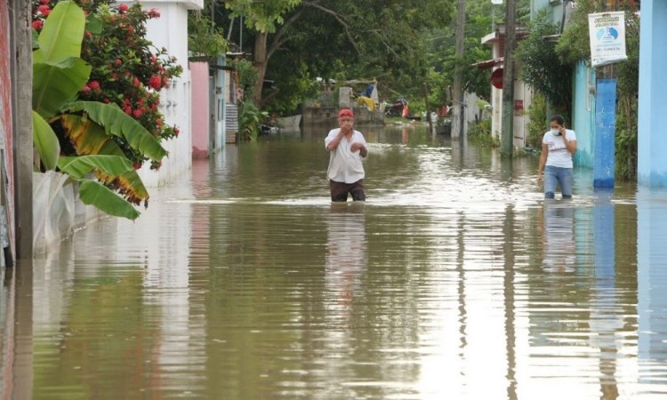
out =
<svg viewBox="0 0 667 400"><path fill-rule="evenodd" d="M75 101L66 106L67 111L85 111L89 118L104 127L107 134L112 134L125 142L143 156L153 161L160 161L167 156L165 148L132 116L128 116L116 104L97 101Z"/></svg>

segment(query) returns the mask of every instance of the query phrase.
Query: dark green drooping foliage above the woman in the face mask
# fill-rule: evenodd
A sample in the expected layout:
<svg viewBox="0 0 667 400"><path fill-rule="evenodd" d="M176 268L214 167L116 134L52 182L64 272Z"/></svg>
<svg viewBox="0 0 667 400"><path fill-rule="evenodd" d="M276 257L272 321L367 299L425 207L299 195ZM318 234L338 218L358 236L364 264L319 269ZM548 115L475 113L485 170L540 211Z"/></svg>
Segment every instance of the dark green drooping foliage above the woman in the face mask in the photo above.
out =
<svg viewBox="0 0 667 400"><path fill-rule="evenodd" d="M550 23L546 10L535 15L530 35L518 44L517 59L521 62L521 79L540 92L556 108L572 108L572 77L574 65L561 60L556 44L544 36L557 34L559 26Z"/></svg>

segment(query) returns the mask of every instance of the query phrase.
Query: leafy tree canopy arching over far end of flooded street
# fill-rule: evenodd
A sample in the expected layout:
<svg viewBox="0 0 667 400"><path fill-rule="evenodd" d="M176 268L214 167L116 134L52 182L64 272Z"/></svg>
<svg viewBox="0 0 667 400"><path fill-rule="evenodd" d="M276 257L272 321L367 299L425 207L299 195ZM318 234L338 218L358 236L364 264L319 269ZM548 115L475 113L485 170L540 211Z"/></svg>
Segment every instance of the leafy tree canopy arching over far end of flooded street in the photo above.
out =
<svg viewBox="0 0 667 400"><path fill-rule="evenodd" d="M526 7L521 0L519 7ZM223 27L244 18L243 52L253 55L260 78L254 101L263 109L293 111L312 92L315 77L377 79L387 100L398 95L423 98L429 83L433 105L446 103L454 67L464 65L470 92L488 97L490 71L470 64L491 57L481 38L491 32L492 7L501 22L503 6L468 2L466 52L454 56L454 0L233 0L216 14ZM231 41L240 36L238 28ZM229 35L229 32L228 32ZM240 42L240 40L239 40ZM273 81L272 87L262 81Z"/></svg>

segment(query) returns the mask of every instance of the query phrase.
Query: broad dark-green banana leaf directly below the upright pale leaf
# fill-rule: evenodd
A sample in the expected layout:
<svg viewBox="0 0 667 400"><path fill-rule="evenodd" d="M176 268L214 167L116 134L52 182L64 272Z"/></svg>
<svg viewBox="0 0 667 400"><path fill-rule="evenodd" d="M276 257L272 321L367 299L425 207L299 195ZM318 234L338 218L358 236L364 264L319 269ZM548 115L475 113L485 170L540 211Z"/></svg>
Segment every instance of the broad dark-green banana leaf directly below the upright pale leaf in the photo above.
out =
<svg viewBox="0 0 667 400"><path fill-rule="evenodd" d="M33 64L32 108L44 118L55 116L91 75L84 60L67 58ZM103 103L101 103L103 104Z"/></svg>

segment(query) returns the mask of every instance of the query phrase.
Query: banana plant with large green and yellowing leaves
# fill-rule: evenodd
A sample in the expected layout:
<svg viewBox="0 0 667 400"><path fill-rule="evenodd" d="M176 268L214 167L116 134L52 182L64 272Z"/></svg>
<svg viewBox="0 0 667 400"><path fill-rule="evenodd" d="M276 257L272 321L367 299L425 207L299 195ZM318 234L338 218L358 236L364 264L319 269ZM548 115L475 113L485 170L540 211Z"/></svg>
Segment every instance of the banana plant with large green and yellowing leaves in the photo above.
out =
<svg viewBox="0 0 667 400"><path fill-rule="evenodd" d="M141 124L115 104L77 101L91 67L80 58L86 19L72 1L62 1L44 21L33 52L33 126L39 161L46 170L60 169L79 181L79 197L103 212L134 220L132 204L148 203L149 193L113 137L153 161L167 156L165 148ZM76 148L75 157L59 157L59 139ZM76 160L81 157L81 160ZM82 175L80 172L84 171ZM84 177L94 173L103 182ZM105 186L106 185L106 186ZM109 188L115 188L117 193Z"/></svg>

